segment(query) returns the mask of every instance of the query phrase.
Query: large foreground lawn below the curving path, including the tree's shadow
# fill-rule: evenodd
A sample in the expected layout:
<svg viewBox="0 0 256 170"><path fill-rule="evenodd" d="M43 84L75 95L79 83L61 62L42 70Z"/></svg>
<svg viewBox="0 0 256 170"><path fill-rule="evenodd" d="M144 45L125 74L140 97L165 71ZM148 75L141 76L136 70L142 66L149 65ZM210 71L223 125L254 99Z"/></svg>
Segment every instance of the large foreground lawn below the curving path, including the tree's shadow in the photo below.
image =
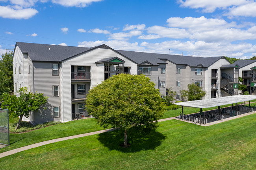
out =
<svg viewBox="0 0 256 170"><path fill-rule="evenodd" d="M254 170L256 114L208 127L178 120L160 122L154 132L121 130L33 148L0 159L9 169Z"/></svg>

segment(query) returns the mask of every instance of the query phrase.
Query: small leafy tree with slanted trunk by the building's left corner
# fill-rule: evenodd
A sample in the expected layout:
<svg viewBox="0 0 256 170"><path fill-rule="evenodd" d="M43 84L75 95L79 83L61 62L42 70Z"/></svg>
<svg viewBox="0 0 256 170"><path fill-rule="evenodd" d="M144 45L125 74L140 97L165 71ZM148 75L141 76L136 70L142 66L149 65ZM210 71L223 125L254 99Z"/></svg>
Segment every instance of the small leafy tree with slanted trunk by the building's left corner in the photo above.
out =
<svg viewBox="0 0 256 170"><path fill-rule="evenodd" d="M46 104L48 97L44 97L43 93L28 93L27 88L20 88L19 95L3 94L2 108L7 108L12 117L20 117L16 129L19 128L22 117L29 117L30 112L39 110Z"/></svg>

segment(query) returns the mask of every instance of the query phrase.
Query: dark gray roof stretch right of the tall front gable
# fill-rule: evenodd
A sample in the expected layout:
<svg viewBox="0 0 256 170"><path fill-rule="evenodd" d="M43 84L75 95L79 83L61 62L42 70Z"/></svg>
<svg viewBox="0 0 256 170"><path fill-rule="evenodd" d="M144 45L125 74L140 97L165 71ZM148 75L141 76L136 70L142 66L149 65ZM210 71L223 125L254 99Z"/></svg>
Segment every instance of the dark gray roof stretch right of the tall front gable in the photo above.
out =
<svg viewBox="0 0 256 170"><path fill-rule="evenodd" d="M157 53L143 53L143 52L135 52L135 51L122 51L116 50L122 55L134 60L138 64L143 63L144 61L148 61L153 65L165 64L163 60L169 60L174 64L187 64L192 67L197 67L200 64L204 67L209 67L211 64L224 57L191 57L191 56L181 56L181 55L168 55L168 54L157 54Z"/></svg>

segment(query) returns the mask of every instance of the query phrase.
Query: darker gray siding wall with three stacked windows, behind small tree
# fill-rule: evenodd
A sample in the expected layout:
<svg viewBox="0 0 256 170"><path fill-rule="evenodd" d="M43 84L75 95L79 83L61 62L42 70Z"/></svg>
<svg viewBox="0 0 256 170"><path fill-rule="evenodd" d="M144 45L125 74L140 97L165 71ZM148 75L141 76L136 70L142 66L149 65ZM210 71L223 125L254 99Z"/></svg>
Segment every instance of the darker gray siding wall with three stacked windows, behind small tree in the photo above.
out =
<svg viewBox="0 0 256 170"><path fill-rule="evenodd" d="M60 121L60 117L53 117L53 107L59 106L59 115L61 112L60 104L60 75L52 75L52 62L33 62L34 70L34 91L37 93L44 93L44 96L48 97L48 102L46 104L46 110L39 110L34 112L34 123L43 123L46 121ZM53 86L59 86L59 96L53 97Z"/></svg>

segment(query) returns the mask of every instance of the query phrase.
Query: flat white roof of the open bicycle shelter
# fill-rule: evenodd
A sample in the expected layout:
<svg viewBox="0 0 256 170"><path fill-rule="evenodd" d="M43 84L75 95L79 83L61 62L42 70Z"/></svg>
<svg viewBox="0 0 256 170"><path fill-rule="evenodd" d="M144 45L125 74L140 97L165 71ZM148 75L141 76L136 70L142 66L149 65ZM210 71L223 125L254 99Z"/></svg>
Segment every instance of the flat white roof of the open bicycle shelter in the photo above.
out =
<svg viewBox="0 0 256 170"><path fill-rule="evenodd" d="M180 106L188 106L193 108L211 108L215 106L222 106L226 104L233 104L244 101L251 101L256 99L256 95L234 95L227 97L218 97L212 99L203 99L198 101L188 101L175 103Z"/></svg>

